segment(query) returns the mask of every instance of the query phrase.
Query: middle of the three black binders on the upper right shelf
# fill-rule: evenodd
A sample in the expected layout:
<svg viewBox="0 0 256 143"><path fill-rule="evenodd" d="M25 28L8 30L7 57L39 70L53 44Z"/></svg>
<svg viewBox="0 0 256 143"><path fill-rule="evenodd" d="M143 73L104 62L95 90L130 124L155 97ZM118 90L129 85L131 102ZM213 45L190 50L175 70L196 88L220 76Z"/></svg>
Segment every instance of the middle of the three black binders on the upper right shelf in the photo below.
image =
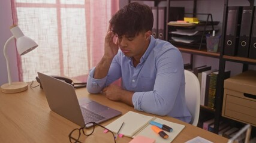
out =
<svg viewBox="0 0 256 143"><path fill-rule="evenodd" d="M248 57L254 7L243 7L237 56Z"/></svg>

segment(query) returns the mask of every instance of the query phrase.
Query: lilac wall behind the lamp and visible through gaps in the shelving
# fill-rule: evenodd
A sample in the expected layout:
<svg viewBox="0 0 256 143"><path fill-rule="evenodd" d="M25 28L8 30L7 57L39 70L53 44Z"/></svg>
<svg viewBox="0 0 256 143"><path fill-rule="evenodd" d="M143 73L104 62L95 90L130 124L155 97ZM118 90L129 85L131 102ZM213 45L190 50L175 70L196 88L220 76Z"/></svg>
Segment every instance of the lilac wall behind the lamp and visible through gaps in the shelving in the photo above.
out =
<svg viewBox="0 0 256 143"><path fill-rule="evenodd" d="M210 2L210 4L209 4ZM120 0L119 2L120 8L124 7L124 5L128 4L128 0ZM186 4L186 5L185 5ZM231 0L231 5L246 5L243 4L243 2L240 2L239 0ZM160 5L165 5L165 2L161 2ZM171 1L171 5L178 6L178 5L185 5L186 11L191 12L192 11L192 1ZM203 5L203 7L200 7ZM216 0L216 1L198 1L198 12L204 13L210 10L208 13L214 13L213 14L213 20L219 20L222 21L222 11L223 7L219 7L219 5L223 5L223 0ZM220 9L216 9L220 8ZM216 18L216 19L215 19ZM3 83L8 83L8 77L7 77L7 66L5 57L3 54L4 49L4 43L7 41L8 38L11 37L11 32L9 27L13 24L12 15L11 15L11 2L10 1L0 1L0 19L1 19L1 25L0 25L0 85ZM219 25L221 25L220 23ZM18 70L17 70L17 58L16 58L16 48L14 48L14 41L11 41L8 45L7 55L10 58L10 70L11 70L11 77L13 81L18 81ZM182 53L184 58L184 63L189 63L190 55ZM213 68L218 68L218 59L217 58L210 58L210 57L204 57L195 55L194 56L194 66L201 66L203 64L207 64L209 66L212 66ZM231 70L231 74L238 74L242 71L242 64L240 63L233 63L233 62L227 62L226 63L226 69ZM249 66L249 69L256 70L255 66Z"/></svg>

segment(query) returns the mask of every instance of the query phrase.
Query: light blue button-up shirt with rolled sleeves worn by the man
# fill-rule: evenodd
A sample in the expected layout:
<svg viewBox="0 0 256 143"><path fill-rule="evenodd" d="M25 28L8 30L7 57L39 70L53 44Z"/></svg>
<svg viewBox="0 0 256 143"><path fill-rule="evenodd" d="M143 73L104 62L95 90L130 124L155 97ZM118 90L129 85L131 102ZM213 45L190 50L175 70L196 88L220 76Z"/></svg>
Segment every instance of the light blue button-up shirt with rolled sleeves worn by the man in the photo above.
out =
<svg viewBox="0 0 256 143"><path fill-rule="evenodd" d="M133 66L132 58L125 57L119 50L106 77L94 79L94 71L95 67L88 76L89 93L99 93L122 77L122 88L135 92L132 104L136 110L191 122L185 104L182 55L171 43L151 36L149 47L137 67Z"/></svg>

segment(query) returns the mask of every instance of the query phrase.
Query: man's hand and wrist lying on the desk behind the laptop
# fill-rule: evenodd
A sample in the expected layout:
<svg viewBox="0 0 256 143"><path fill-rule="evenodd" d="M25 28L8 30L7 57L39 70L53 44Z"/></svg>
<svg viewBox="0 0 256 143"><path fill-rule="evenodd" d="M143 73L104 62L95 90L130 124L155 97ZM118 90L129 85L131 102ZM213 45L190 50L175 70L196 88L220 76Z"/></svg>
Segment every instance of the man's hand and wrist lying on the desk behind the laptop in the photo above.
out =
<svg viewBox="0 0 256 143"><path fill-rule="evenodd" d="M125 104L128 104L130 106L133 106L132 104L132 95L134 92L131 91L125 91L121 87L117 85L109 85L106 88L103 89L103 94L106 95L106 97L109 100L112 101L121 101Z"/></svg>

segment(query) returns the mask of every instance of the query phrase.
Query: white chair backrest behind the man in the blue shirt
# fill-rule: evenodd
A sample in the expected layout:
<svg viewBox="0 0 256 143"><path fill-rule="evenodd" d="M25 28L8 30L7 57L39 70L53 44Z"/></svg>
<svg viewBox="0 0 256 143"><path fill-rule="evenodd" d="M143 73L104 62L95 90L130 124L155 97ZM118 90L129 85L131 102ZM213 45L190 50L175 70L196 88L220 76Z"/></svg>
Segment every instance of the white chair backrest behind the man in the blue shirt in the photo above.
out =
<svg viewBox="0 0 256 143"><path fill-rule="evenodd" d="M200 113L200 83L194 73L184 70L186 105L192 115L191 124L197 126Z"/></svg>

